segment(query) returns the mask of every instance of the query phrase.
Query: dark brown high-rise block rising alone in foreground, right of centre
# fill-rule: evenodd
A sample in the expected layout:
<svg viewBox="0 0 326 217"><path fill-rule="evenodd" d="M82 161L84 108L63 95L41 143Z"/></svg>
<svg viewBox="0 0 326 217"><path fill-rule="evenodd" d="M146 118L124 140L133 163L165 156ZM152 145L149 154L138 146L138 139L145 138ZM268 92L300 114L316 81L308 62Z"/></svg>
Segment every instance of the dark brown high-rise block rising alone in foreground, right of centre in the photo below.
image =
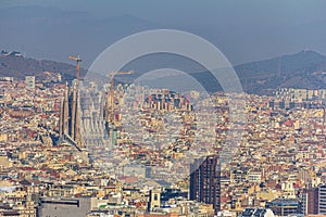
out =
<svg viewBox="0 0 326 217"><path fill-rule="evenodd" d="M195 159L190 165L190 200L213 204L215 214L221 204L221 163L218 155Z"/></svg>

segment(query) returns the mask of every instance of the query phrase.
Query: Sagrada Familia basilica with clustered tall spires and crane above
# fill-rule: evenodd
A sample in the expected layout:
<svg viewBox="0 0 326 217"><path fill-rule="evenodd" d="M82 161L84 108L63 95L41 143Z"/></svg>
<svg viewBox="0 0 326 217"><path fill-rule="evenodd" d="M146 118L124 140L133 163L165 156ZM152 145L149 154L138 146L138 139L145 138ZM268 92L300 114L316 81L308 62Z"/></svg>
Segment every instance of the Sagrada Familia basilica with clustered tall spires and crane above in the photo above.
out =
<svg viewBox="0 0 326 217"><path fill-rule="evenodd" d="M85 148L108 146L112 141L105 128L109 113L108 94L97 91L96 87L82 88L79 80L79 55L71 56L76 61L76 79L66 84L61 101L59 133L60 142L67 142L82 151ZM112 133L111 133L112 135Z"/></svg>

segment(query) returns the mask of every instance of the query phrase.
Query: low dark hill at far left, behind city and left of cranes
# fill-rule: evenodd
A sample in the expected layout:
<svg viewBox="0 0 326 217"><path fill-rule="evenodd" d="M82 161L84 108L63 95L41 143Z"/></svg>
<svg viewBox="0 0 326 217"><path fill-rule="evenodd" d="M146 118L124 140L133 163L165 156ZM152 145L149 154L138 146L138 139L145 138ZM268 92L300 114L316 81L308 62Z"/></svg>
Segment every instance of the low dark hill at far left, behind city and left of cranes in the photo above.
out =
<svg viewBox="0 0 326 217"><path fill-rule="evenodd" d="M62 79L72 80L75 77L75 66L73 64L59 63L54 61L37 61L22 55L0 55L0 76L10 76L23 79L25 76L34 75L42 79L45 72L60 73ZM86 69L80 73L85 75Z"/></svg>

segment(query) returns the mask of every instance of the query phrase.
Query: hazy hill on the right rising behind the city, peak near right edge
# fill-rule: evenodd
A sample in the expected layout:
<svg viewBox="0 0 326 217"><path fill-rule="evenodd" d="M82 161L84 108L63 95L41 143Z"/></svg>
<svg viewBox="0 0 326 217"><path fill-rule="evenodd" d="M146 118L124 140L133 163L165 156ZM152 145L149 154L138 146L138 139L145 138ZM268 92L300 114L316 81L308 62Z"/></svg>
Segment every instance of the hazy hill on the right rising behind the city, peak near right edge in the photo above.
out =
<svg viewBox="0 0 326 217"><path fill-rule="evenodd" d="M234 67L246 92L269 94L279 88L326 89L326 56L314 51L281 55ZM209 72L193 77L209 91L222 90Z"/></svg>

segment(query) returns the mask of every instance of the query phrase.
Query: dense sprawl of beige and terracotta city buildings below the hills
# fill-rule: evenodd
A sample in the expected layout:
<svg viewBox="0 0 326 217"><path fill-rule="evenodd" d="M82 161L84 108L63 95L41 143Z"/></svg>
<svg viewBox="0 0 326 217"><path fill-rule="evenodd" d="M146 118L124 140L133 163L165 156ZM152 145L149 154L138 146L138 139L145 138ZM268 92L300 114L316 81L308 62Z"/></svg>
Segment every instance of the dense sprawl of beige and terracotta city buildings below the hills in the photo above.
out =
<svg viewBox="0 0 326 217"><path fill-rule="evenodd" d="M202 113L191 104L200 92L130 88L137 100L126 107L141 111L135 117L122 108L127 86L82 91L76 80L50 77L1 78L2 216L326 214L326 90L246 94L242 139L221 164L230 140L226 93L212 94L210 106L203 100L210 112ZM95 106L93 99L104 100ZM211 108L215 125L208 120ZM76 113L79 120L72 118ZM173 122L179 116L180 125L164 124L166 114ZM130 130L135 125L124 128L124 117L139 118L143 135Z"/></svg>

